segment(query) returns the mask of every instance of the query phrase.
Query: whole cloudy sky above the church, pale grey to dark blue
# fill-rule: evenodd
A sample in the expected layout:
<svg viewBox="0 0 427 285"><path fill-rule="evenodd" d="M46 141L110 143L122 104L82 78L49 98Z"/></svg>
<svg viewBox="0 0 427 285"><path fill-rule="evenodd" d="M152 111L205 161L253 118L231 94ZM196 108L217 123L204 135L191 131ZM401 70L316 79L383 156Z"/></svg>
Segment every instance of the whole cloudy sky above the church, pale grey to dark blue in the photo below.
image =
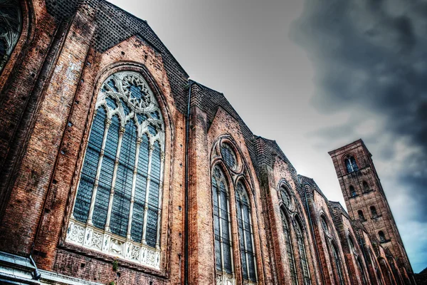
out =
<svg viewBox="0 0 427 285"><path fill-rule="evenodd" d="M330 200L344 205L327 152L362 138L413 270L427 266L426 1L111 2Z"/></svg>

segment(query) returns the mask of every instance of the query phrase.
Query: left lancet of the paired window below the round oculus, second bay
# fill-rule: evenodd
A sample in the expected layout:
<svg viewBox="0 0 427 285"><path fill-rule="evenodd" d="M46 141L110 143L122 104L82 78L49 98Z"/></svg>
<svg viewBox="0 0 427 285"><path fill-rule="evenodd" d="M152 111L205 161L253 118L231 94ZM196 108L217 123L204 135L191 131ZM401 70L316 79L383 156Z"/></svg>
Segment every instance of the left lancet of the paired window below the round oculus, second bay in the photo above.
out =
<svg viewBox="0 0 427 285"><path fill-rule="evenodd" d="M220 167L212 175L214 203L215 260L218 275L233 275L233 244L231 242L230 202L226 178Z"/></svg>

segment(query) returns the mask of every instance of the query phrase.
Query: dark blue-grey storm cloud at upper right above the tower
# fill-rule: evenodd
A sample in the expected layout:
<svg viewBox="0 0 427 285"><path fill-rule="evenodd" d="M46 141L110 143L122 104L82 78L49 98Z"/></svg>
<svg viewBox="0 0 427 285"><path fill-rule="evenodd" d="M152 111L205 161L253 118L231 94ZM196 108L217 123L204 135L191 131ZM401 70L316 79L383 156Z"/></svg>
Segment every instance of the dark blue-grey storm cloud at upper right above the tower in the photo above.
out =
<svg viewBox="0 0 427 285"><path fill-rule="evenodd" d="M413 220L427 222L427 3L397 0L305 1L292 38L303 46L316 71L313 104L325 113L347 111L350 120L315 135L325 143L351 135L367 112L381 118L379 158L393 163L405 138L413 149L399 160L399 187L417 202ZM363 110L363 112L358 112ZM363 133L363 132L362 132ZM415 151L416 150L416 151ZM408 165L408 167L406 167ZM424 247L425 248L425 247ZM426 266L426 260L423 261Z"/></svg>

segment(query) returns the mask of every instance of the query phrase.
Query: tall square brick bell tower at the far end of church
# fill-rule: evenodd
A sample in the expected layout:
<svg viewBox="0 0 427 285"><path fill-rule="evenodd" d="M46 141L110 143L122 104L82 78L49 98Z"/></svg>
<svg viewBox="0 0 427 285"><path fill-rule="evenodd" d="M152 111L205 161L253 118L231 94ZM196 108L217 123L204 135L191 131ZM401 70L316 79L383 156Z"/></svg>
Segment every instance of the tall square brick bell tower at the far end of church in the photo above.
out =
<svg viewBox="0 0 427 285"><path fill-rule="evenodd" d="M349 216L359 219L384 248L389 248L398 261L402 276L412 279L411 264L372 162L371 152L359 139L329 154Z"/></svg>

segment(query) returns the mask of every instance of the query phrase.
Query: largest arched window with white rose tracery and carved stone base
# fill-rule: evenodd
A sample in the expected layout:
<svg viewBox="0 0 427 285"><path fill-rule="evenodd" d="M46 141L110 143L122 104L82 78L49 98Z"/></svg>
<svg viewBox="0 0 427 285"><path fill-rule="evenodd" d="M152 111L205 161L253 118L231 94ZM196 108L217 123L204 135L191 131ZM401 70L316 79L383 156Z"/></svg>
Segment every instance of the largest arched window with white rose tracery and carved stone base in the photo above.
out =
<svg viewBox="0 0 427 285"><path fill-rule="evenodd" d="M159 269L164 120L140 73L100 89L68 242Z"/></svg>

